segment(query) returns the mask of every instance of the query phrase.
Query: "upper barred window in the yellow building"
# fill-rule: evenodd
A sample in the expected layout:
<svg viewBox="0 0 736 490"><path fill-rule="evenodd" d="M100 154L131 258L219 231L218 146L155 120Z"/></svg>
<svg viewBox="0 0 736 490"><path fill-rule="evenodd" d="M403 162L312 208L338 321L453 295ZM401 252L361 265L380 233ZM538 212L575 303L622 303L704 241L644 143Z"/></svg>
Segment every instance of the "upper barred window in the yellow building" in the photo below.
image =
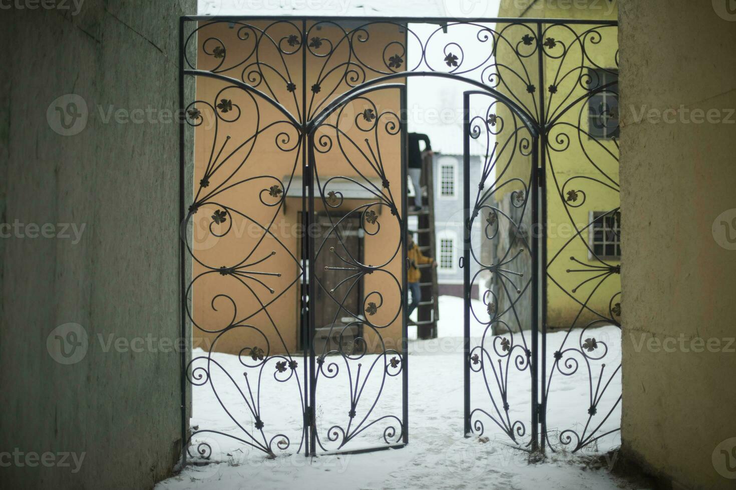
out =
<svg viewBox="0 0 736 490"><path fill-rule="evenodd" d="M588 100L588 132L596 140L618 138L618 71L590 70L588 88L616 82Z"/></svg>

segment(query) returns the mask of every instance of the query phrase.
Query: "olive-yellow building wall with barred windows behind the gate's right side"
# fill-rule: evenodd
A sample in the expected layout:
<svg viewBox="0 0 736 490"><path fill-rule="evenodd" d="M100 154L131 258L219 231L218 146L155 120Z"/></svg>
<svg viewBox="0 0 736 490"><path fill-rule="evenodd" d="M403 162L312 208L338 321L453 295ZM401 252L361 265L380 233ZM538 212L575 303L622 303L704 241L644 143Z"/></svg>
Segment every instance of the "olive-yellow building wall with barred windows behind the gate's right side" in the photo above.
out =
<svg viewBox="0 0 736 490"><path fill-rule="evenodd" d="M577 6L577 7L574 7ZM590 20L615 20L618 4L613 2L590 1L581 2L535 2L528 9L520 8L519 2L502 1L499 16L514 17L524 15L527 18L573 18ZM548 42L545 51L548 56L543 58L544 87L537 87L538 79L537 54L519 60L512 53L512 46L500 45L498 60L508 64L509 68L520 73L528 73L535 85L534 93L528 93L526 82L515 76L508 76L509 87L501 87L504 91L517 95L517 103L523 104L525 109L539 117L539 90L544 91L544 111L546 120L554 120L562 109L573 103L576 98L583 96L585 90L579 85L581 66L618 70L616 60L618 51L618 29L615 26L598 27L595 32L584 34L590 25L552 26L545 24L542 32L543 42ZM536 40L537 32L531 32L526 26L498 24L498 31L504 30L509 39L520 43L520 50L526 47L522 37L531 35ZM534 29L534 27L532 28ZM576 37L585 38L584 50ZM554 42L548 41L551 38ZM514 46L515 47L515 46ZM528 46L529 48L534 46ZM567 54L563 57L563 52ZM508 61L507 61L508 60ZM583 72L585 73L585 72ZM567 74L567 75L566 75ZM586 79L583 79L583 83ZM593 86L598 82L592 82ZM550 84L556 84L556 93L549 90ZM567 97L567 100L565 100ZM565 115L556 119L556 124L550 131L548 140L548 159L545 181L547 185L547 248L548 248L548 295L547 295L547 325L548 327L569 328L570 326L584 326L600 316L583 309L586 303L590 309L598 311L605 317L619 320L615 314L615 303L620 303L620 275L613 273L601 282L601 278L593 279L580 285L583 281L596 275L605 273L593 267L601 267L597 259L590 259L586 244L589 242L588 231L582 231L581 238L575 238L578 231L589 224L591 211L608 212L618 208L618 146L612 140L594 140L587 134L578 134L576 126L587 131L587 100L578 101ZM509 112L504 113L509 117ZM586 155L587 153L587 155ZM595 164L595 165L593 165ZM528 181L528 171L531 157L514 158L513 169L509 176L519 176ZM598 168L596 168L596 166ZM568 179L573 179L566 184ZM603 184L593 181L596 179ZM578 201L573 203L577 207L565 203L567 192L578 191ZM583 200L584 203L580 205ZM498 198L504 198L509 191L498 193ZM622 253L626 253L623 251ZM571 260L574 257L583 264ZM606 260L606 264L615 267L619 261ZM586 267L592 266L592 267ZM590 272L567 272L568 270L584 270ZM590 298L590 299L589 299ZM614 311L611 312L611 309ZM578 317L579 315L579 317Z"/></svg>

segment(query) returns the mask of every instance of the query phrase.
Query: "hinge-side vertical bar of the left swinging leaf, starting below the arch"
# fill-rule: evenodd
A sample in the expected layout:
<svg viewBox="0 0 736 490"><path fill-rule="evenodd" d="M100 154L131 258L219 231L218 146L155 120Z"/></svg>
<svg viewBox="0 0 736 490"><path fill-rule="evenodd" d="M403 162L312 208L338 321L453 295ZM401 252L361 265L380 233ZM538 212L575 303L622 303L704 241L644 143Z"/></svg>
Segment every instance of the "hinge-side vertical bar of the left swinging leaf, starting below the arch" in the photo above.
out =
<svg viewBox="0 0 736 490"><path fill-rule="evenodd" d="M307 140L309 163L306 168L308 182L307 237L309 256L309 436L312 455L316 455L316 371L314 363L314 300L316 298L315 257L314 257L314 133Z"/></svg>

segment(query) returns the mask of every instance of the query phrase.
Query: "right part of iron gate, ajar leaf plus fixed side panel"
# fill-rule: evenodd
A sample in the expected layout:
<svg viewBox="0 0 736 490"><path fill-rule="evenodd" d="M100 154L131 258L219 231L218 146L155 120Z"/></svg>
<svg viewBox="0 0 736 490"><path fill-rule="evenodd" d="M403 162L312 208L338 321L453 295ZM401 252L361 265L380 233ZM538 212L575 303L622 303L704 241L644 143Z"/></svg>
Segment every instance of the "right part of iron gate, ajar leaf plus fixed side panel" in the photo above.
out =
<svg viewBox="0 0 736 490"><path fill-rule="evenodd" d="M464 420L466 434L482 435L487 422L520 448L574 453L598 450L599 440L619 430L609 419L620 391L608 390L620 376L620 360L609 355L609 344L620 353L620 334L612 334L620 330L618 51L598 65L587 50L615 26L586 25L565 41L556 37L559 29L570 27L538 24L522 37L539 67L536 79L514 73L526 104L521 91L464 94ZM565 66L573 54L579 62ZM558 58L559 67L546 66ZM469 171L473 140L486 148L480 176ZM578 209L589 216L581 221ZM567 253L584 255L570 255L560 270ZM473 286L483 281L473 306ZM551 321L548 307L565 302L566 311ZM604 325L607 331L596 330ZM618 366L606 369L606 361ZM555 377L568 378L565 385L576 378L587 399L556 412L550 400L559 403L570 386L553 390ZM473 392L484 395L481 402L473 403Z"/></svg>

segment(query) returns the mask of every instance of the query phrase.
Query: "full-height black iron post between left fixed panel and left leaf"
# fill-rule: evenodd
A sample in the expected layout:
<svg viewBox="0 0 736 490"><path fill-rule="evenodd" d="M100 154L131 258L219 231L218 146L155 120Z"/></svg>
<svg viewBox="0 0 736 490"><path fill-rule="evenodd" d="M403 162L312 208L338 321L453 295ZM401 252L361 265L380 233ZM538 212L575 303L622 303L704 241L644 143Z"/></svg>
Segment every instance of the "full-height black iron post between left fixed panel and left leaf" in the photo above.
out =
<svg viewBox="0 0 736 490"><path fill-rule="evenodd" d="M309 320L308 320L308 311L311 309L309 308L309 299L308 296L308 287L311 281L309 281L308 278L308 271L311 269L310 265L311 263L309 261L309 217L307 215L307 192L308 192L308 183L307 183L307 174L308 174L308 160L307 160L307 141L306 141L306 135L304 134L304 127L305 127L305 121L307 120L307 115L305 114L305 110L307 107L307 92L306 92L306 86L307 86L307 50L305 46L307 40L307 21L302 20L302 128L300 129L300 136L302 138L302 314L300 317L300 324L302 328L302 359L304 364L304 427L303 427L303 435L304 435L304 455L305 457L309 457L309 448L310 448L310 426L311 426L311 417L310 417L310 403L311 403L311 392L309 391L309 386L311 386L311 378L310 378L310 353L311 350L309 349L309 346L311 345L311 339L309 336Z"/></svg>

